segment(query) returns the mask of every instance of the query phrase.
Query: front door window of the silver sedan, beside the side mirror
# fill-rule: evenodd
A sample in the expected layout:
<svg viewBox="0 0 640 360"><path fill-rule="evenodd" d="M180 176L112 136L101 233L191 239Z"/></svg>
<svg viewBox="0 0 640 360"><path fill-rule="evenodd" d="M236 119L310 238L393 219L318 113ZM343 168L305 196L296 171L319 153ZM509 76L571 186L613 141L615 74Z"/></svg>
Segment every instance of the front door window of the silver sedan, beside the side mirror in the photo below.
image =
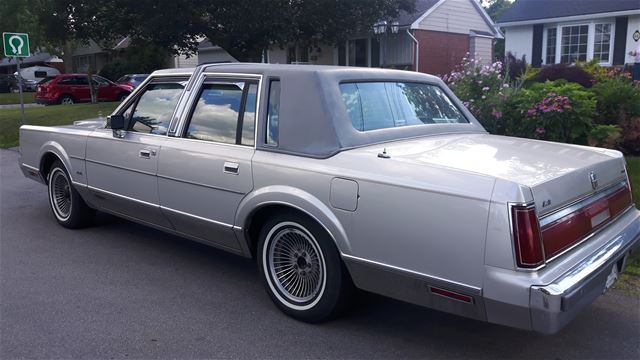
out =
<svg viewBox="0 0 640 360"><path fill-rule="evenodd" d="M170 82L147 86L137 103L125 111L125 118L130 117L131 131L166 135L184 85L184 82Z"/></svg>

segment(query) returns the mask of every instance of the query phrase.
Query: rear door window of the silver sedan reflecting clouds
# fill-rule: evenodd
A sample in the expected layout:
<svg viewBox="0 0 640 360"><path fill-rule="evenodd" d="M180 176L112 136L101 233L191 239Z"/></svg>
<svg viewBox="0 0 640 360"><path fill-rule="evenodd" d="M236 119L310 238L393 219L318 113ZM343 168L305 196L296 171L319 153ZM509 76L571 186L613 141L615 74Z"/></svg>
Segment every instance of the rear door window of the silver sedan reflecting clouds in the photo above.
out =
<svg viewBox="0 0 640 360"><path fill-rule="evenodd" d="M253 146L257 93L255 82L205 83L185 137Z"/></svg>

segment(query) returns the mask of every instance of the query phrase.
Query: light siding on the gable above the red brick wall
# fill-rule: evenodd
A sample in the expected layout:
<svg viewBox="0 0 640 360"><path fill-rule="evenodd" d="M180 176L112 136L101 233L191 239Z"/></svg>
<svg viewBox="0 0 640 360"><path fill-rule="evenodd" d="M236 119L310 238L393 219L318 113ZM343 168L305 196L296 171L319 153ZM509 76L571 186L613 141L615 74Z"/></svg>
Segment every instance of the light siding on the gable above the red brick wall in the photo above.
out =
<svg viewBox="0 0 640 360"><path fill-rule="evenodd" d="M444 31L469 34L471 30L493 33L478 9L471 3L475 0L447 0L424 18L421 30Z"/></svg>

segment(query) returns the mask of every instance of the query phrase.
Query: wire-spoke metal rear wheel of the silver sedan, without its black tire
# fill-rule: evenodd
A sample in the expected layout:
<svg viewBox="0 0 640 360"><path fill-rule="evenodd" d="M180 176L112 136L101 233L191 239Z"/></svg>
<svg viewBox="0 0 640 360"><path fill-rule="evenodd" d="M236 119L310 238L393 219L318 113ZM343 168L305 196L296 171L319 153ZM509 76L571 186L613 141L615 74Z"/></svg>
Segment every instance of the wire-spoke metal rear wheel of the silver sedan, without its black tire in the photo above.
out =
<svg viewBox="0 0 640 360"><path fill-rule="evenodd" d="M309 233L295 226L273 234L267 264L272 282L293 303L312 301L324 286L326 268L320 248Z"/></svg>

